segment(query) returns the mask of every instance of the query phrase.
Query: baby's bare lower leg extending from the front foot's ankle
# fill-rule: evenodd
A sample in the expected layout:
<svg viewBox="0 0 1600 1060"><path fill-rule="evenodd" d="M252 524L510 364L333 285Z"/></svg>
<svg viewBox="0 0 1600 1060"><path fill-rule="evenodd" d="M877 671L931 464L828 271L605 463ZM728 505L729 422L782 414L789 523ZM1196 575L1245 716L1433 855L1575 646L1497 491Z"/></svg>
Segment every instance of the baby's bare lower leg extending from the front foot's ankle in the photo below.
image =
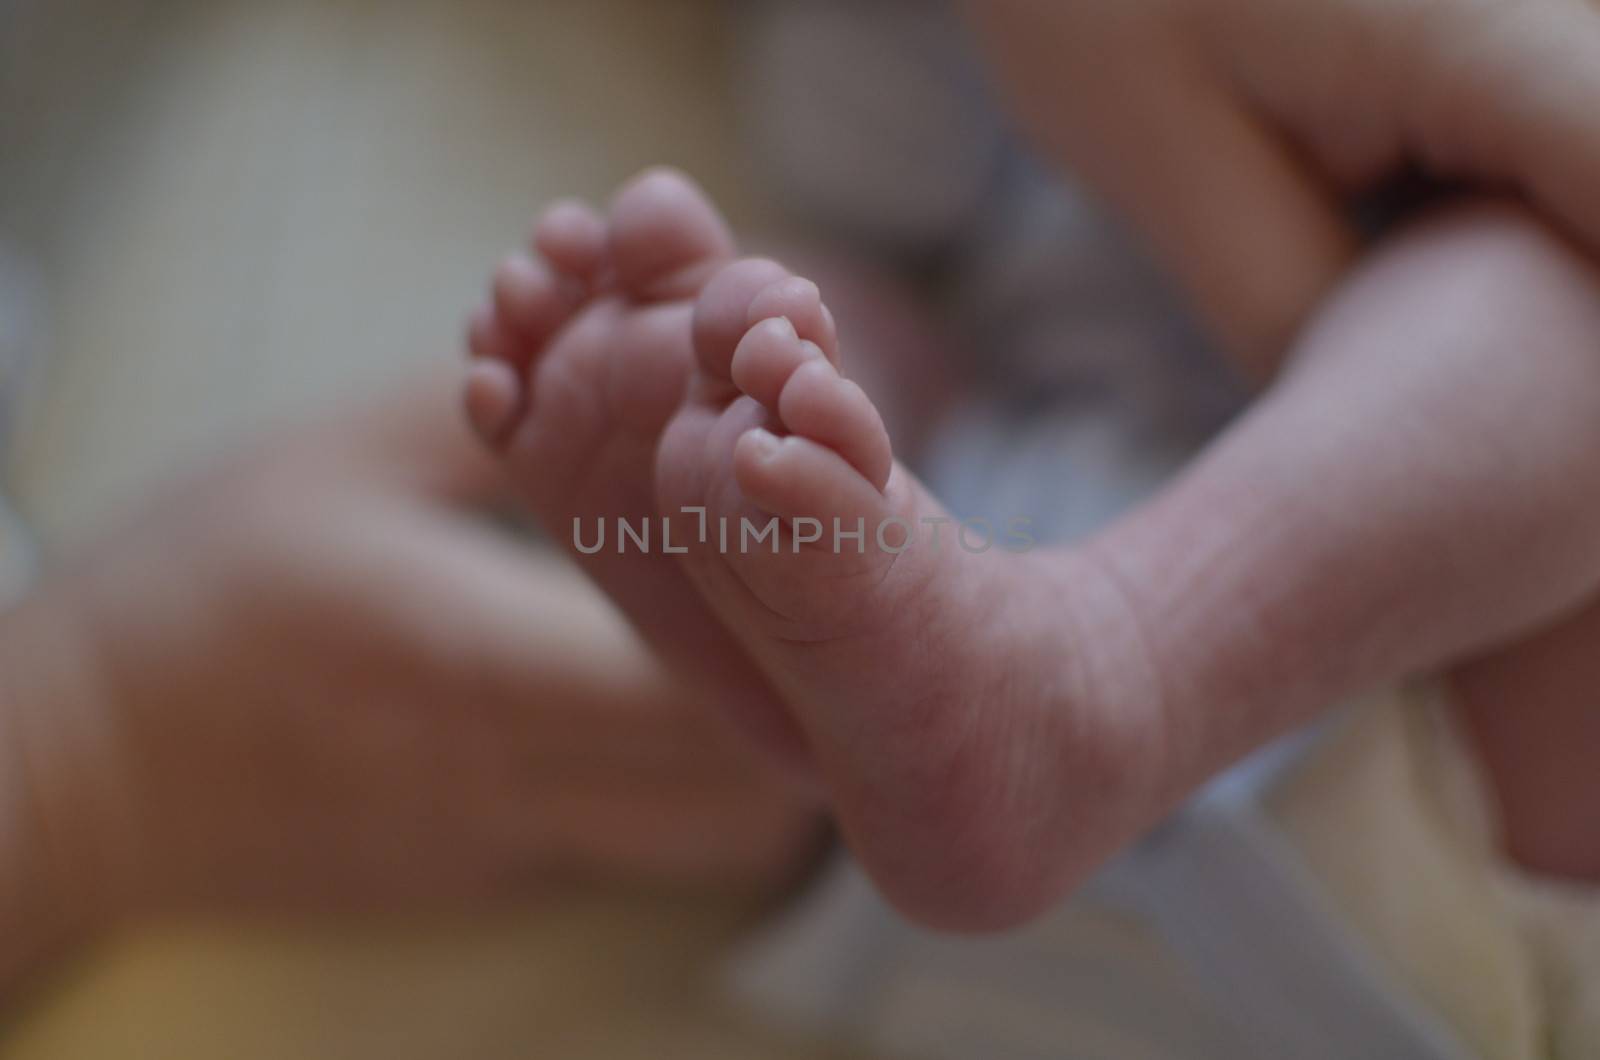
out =
<svg viewBox="0 0 1600 1060"><path fill-rule="evenodd" d="M1282 383L1091 546L1139 615L1173 778L1578 608L1597 487L1600 277L1512 208L1400 234Z"/></svg>

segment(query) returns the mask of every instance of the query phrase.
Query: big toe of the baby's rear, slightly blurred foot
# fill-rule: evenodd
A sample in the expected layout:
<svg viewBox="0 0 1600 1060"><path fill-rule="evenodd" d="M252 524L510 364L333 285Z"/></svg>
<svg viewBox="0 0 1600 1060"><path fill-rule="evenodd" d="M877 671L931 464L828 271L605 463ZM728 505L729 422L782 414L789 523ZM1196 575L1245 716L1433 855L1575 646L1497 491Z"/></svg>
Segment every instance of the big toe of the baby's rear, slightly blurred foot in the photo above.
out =
<svg viewBox="0 0 1600 1060"><path fill-rule="evenodd" d="M733 256L733 234L706 194L675 170L650 170L611 207L611 264L630 296L690 298Z"/></svg>

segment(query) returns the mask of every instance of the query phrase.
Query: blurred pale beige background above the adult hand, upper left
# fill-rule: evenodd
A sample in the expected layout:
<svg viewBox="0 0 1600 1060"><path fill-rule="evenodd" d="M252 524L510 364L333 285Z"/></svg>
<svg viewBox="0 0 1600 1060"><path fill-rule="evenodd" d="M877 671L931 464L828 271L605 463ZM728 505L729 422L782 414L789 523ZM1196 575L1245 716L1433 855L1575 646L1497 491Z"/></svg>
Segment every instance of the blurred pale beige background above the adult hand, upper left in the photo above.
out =
<svg viewBox="0 0 1600 1060"><path fill-rule="evenodd" d="M6 0L0 234L58 352L13 460L72 535L216 440L454 355L555 195L744 194L709 0ZM13 267L13 272L18 267Z"/></svg>

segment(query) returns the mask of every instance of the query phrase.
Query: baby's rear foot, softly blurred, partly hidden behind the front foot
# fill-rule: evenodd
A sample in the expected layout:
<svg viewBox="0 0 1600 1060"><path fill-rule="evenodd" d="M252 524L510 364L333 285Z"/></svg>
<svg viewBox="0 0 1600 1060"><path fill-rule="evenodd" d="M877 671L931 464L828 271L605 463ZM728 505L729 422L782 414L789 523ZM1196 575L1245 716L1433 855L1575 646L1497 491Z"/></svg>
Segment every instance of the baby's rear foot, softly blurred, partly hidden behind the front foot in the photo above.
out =
<svg viewBox="0 0 1600 1060"><path fill-rule="evenodd" d="M766 682L667 554L654 498L656 447L693 362L694 298L731 255L723 219L674 171L637 178L608 218L552 207L472 320L466 405L546 532L662 656L795 757ZM622 540L622 525L643 536Z"/></svg>

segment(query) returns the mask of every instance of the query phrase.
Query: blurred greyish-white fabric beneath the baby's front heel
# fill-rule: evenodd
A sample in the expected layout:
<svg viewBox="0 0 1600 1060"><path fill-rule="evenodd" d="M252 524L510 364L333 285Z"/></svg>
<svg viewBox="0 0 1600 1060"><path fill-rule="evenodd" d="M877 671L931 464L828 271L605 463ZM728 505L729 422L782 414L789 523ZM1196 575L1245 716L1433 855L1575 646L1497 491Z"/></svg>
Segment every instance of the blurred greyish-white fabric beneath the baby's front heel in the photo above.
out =
<svg viewBox="0 0 1600 1060"><path fill-rule="evenodd" d="M1325 729L1370 729L1374 716L1363 705ZM1469 1049L1419 1004L1414 982L1352 930L1347 909L1264 810L1280 785L1339 743L1318 732L1264 751L1059 909L1000 938L922 932L842 860L734 969L736 990L798 1026L928 1060L1533 1060L1528 1036L1499 1036L1501 1046L1515 1038L1517 1050ZM1405 805L1395 785L1376 788ZM1406 837L1424 850L1450 847L1437 829ZM1384 852L1394 855L1390 879L1403 879L1411 850ZM1491 914L1488 927L1456 927L1515 935L1494 906L1480 911ZM1514 970L1480 1001L1494 1002L1507 985L1526 980Z"/></svg>

